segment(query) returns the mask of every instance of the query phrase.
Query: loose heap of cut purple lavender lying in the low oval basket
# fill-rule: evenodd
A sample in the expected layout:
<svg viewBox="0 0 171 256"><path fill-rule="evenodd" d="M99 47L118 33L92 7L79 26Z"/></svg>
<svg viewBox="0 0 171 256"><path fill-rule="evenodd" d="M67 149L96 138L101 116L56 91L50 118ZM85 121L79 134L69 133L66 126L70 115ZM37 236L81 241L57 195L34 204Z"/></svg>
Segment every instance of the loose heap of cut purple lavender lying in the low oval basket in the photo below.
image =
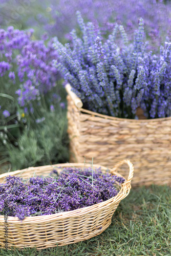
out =
<svg viewBox="0 0 171 256"><path fill-rule="evenodd" d="M0 215L23 220L26 216L51 215L106 201L116 196L124 178L103 174L101 168L54 169L49 177L23 179L7 176L0 183Z"/></svg>

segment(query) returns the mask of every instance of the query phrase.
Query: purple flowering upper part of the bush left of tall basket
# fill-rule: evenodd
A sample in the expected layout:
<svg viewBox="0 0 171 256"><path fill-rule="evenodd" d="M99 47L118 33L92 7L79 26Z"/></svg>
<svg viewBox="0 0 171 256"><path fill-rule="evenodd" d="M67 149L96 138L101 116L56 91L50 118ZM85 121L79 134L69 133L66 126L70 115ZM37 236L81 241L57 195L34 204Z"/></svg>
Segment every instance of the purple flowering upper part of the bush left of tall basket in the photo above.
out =
<svg viewBox="0 0 171 256"><path fill-rule="evenodd" d="M32 34L33 30L13 27L0 30L1 125L8 117L20 119L33 114L44 101L49 108L53 102L60 103L58 73L52 66L57 52L52 40L46 46L44 40L32 40Z"/></svg>

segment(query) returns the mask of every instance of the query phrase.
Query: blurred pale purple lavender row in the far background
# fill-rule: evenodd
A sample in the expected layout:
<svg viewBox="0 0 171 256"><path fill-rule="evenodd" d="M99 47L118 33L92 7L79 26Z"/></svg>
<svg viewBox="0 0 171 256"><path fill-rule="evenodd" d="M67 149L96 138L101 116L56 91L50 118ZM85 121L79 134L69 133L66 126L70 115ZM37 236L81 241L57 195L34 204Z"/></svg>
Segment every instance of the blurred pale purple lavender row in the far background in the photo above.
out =
<svg viewBox="0 0 171 256"><path fill-rule="evenodd" d="M37 36L47 31L60 40L68 40L69 32L76 26L77 10L85 21L99 24L107 35L115 23L123 25L129 39L133 39L133 31L142 17L152 50L170 37L171 4L163 0L1 0L0 25L16 24L20 29L33 27Z"/></svg>

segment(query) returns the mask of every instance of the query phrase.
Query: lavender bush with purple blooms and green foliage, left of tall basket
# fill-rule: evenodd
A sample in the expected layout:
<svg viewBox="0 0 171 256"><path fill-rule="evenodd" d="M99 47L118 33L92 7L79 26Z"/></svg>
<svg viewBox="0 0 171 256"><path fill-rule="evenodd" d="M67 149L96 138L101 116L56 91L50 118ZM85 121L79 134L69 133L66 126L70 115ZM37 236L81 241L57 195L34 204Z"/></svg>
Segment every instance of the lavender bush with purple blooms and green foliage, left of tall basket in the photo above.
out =
<svg viewBox="0 0 171 256"><path fill-rule="evenodd" d="M52 40L32 37L33 30L0 29L0 147L12 169L68 160L65 90L52 66L57 52Z"/></svg>

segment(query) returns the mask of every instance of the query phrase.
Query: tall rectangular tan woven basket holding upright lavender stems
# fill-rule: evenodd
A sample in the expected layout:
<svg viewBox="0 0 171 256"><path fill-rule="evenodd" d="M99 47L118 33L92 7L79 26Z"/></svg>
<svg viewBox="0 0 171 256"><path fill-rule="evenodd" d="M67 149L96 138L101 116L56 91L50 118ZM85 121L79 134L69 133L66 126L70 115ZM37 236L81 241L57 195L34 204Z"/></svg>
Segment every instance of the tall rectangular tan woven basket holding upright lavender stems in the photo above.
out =
<svg viewBox="0 0 171 256"><path fill-rule="evenodd" d="M171 117L135 120L101 115L82 108L68 92L70 161L112 167L114 159L130 159L135 167L133 186L171 185ZM121 172L125 176L124 170Z"/></svg>

